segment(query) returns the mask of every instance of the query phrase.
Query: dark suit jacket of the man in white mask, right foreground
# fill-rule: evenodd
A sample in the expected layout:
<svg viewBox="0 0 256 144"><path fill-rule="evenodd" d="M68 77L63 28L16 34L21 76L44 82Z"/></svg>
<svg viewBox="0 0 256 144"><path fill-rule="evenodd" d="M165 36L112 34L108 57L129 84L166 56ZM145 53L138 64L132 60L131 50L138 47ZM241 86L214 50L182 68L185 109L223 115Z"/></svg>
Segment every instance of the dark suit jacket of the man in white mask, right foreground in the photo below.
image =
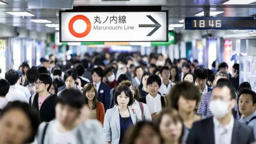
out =
<svg viewBox="0 0 256 144"><path fill-rule="evenodd" d="M234 120L231 144L251 144L254 142L253 128ZM217 144L214 137L213 118L195 122L186 144Z"/></svg>

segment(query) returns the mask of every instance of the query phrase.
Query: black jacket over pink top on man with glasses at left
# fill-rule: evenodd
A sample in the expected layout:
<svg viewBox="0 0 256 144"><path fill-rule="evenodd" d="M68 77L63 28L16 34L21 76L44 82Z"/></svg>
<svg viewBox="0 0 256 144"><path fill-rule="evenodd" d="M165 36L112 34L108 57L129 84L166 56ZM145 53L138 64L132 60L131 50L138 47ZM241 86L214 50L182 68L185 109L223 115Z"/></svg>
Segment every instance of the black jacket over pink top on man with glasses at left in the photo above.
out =
<svg viewBox="0 0 256 144"><path fill-rule="evenodd" d="M31 98L32 98L32 96L29 98L30 106L31 106ZM36 110L38 111L40 122L50 122L52 119L55 118L55 100L56 100L56 98L57 98L57 94L51 94L50 96L48 96L42 103L42 106L39 110L39 108L38 108L38 93L36 93L32 107L36 108Z"/></svg>

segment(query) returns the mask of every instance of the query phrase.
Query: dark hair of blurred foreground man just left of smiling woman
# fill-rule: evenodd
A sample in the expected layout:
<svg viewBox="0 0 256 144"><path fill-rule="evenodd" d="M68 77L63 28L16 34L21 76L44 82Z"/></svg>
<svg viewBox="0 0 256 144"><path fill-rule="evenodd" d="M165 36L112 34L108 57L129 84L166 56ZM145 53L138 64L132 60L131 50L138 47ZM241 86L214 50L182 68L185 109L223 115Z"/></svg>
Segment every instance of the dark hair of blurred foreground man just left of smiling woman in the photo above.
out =
<svg viewBox="0 0 256 144"><path fill-rule="evenodd" d="M64 89L56 98L56 104L68 105L72 108L82 108L85 103L84 95L78 89Z"/></svg>

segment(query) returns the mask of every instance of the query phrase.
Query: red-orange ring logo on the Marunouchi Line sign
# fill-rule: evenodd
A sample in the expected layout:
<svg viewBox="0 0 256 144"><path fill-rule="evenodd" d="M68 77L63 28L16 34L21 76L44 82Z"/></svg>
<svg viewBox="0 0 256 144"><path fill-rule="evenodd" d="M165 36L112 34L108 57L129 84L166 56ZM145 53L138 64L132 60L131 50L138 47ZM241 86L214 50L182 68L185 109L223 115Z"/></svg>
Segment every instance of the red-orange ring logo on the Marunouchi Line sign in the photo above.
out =
<svg viewBox="0 0 256 144"><path fill-rule="evenodd" d="M73 25L76 20L84 20L84 22L86 23L86 26L87 26L86 30L84 32L78 33L74 30ZM87 36L90 33L91 28L92 28L92 24L91 24L90 20L86 16L83 16L83 15L74 16L73 18L71 18L71 20L68 23L68 30L69 30L70 34L72 34L73 36L75 36L77 38L83 38L83 37Z"/></svg>

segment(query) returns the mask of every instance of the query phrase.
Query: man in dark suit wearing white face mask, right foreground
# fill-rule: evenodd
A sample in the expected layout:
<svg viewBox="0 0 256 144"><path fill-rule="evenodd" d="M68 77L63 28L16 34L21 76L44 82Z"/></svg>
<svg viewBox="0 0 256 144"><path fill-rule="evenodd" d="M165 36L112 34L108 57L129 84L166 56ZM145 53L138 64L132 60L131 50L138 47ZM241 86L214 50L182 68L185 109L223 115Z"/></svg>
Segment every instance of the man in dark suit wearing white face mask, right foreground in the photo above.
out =
<svg viewBox="0 0 256 144"><path fill-rule="evenodd" d="M219 82L221 81L221 82ZM234 120L236 92L228 79L220 78L212 90L210 110L212 118L195 122L186 144L251 144L253 129Z"/></svg>

